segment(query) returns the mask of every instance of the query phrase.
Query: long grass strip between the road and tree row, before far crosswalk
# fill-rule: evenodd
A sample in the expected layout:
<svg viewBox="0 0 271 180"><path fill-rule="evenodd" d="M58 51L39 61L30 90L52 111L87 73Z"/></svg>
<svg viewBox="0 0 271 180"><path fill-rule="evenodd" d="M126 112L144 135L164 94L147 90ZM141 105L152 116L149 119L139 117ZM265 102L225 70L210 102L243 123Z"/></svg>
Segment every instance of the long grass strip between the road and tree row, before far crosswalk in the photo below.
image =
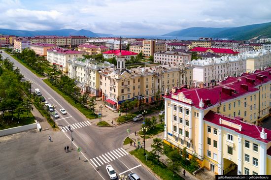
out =
<svg viewBox="0 0 271 180"><path fill-rule="evenodd" d="M73 107L78 109L83 115L86 116L88 119L95 119L98 118L98 116L95 113L92 113L90 110L82 107L80 103L75 103L71 97L66 95L63 91L59 90L58 88L54 87L51 82L48 79L43 80L48 86L50 86L53 90L55 90L57 93L59 93L66 101L68 101L69 104L71 104Z"/></svg>

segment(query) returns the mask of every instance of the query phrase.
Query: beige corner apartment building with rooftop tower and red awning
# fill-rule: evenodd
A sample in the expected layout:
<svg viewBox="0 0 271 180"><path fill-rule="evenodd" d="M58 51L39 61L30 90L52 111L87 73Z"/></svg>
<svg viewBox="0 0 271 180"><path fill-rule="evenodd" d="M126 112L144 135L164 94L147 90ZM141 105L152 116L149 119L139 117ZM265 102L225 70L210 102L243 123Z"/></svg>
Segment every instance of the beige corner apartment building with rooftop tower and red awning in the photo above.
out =
<svg viewBox="0 0 271 180"><path fill-rule="evenodd" d="M158 65L126 69L125 58L117 57L117 68L104 68L100 73L102 100L112 111L126 100L155 101L156 94L182 84L192 85L192 67Z"/></svg>

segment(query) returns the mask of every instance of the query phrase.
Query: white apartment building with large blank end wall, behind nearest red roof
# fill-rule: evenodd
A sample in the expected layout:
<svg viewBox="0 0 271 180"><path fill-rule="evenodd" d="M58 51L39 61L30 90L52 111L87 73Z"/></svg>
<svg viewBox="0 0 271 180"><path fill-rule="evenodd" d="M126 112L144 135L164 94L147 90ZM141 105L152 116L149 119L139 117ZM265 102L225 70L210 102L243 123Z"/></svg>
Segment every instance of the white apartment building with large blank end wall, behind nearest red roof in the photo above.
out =
<svg viewBox="0 0 271 180"><path fill-rule="evenodd" d="M193 82L205 87L214 86L227 76L239 76L246 72L246 59L241 56L223 56L188 62L193 68Z"/></svg>

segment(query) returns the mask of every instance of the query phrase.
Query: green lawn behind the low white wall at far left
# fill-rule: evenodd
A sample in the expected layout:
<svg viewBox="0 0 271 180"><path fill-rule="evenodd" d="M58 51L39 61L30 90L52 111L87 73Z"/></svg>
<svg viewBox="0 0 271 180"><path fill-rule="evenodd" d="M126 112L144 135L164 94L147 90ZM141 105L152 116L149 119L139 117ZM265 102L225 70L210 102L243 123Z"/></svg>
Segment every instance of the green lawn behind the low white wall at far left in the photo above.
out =
<svg viewBox="0 0 271 180"><path fill-rule="evenodd" d="M31 112L28 113L29 118L27 117L27 112L24 112L24 114L21 115L21 120L17 119L17 114L15 114L15 115L16 115L16 118L14 117L13 120L11 120L12 118L10 117L10 120L8 121L8 123L6 123L6 121L1 122L0 123L0 130L35 123L34 116L32 115ZM5 116L8 116L8 114L6 113ZM11 116L11 114L10 114L10 116ZM19 123L18 123L18 121L19 121Z"/></svg>

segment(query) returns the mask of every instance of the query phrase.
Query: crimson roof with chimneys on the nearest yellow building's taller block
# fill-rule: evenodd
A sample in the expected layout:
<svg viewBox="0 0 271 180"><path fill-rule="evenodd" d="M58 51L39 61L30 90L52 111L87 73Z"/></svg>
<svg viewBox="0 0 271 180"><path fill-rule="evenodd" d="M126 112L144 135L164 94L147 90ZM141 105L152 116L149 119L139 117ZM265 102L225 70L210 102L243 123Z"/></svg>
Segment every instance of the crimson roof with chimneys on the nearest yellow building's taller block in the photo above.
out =
<svg viewBox="0 0 271 180"><path fill-rule="evenodd" d="M186 87L175 88L176 92L174 95L182 92L187 99L192 100L192 106L200 108L199 103L201 99L210 100L210 104L215 105L216 103L227 101L229 99L237 98L238 96L254 92L259 90L256 86L263 83L271 81L271 68L266 68L264 71L256 71L253 74L243 74L237 78L228 78L226 81L221 82L221 85L215 86L214 88L209 89L187 89ZM247 88L247 90L246 90ZM165 95L165 98L171 98L172 92L170 91L168 95ZM220 96L220 98L219 98ZM176 99L173 99L178 101ZM203 109L209 107L209 105L204 105Z"/></svg>

